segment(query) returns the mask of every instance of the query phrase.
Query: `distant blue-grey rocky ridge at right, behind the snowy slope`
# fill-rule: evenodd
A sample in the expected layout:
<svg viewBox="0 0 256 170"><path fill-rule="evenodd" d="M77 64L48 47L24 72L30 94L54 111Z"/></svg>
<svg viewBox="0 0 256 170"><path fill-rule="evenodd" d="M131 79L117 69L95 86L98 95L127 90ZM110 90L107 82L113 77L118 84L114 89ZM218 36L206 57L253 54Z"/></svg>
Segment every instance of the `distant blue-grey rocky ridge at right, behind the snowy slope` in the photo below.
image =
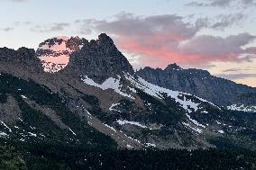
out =
<svg viewBox="0 0 256 170"><path fill-rule="evenodd" d="M255 94L255 88L211 76L205 70L182 69L173 64L165 69L145 67L136 72L136 75L154 85L195 94L218 105L256 104L251 94ZM244 95L247 97L242 97ZM254 103L251 103L251 101L254 101Z"/></svg>

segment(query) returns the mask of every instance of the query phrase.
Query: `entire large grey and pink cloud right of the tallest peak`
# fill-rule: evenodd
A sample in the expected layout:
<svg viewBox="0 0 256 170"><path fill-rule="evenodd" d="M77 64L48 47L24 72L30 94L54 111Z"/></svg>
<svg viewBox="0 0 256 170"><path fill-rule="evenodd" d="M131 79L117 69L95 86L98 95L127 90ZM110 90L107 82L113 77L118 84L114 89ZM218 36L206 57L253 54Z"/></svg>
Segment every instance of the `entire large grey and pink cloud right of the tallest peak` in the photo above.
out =
<svg viewBox="0 0 256 170"><path fill-rule="evenodd" d="M85 21L84 29L112 35L119 49L140 56L141 66L165 67L173 62L204 66L213 61L249 61L256 55L255 48L243 48L255 36L198 36L207 25L204 20L189 23L171 14L138 17L123 13L114 21Z"/></svg>

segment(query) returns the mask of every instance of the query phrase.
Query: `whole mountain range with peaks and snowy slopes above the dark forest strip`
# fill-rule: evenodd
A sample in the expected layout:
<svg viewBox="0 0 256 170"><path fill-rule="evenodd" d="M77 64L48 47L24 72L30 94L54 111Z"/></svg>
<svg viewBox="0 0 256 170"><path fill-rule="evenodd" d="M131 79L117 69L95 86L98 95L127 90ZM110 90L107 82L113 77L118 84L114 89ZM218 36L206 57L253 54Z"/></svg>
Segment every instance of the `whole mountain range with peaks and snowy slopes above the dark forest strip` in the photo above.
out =
<svg viewBox="0 0 256 170"><path fill-rule="evenodd" d="M14 146L256 150L255 88L176 64L134 72L105 33L2 48L0 71L0 139Z"/></svg>

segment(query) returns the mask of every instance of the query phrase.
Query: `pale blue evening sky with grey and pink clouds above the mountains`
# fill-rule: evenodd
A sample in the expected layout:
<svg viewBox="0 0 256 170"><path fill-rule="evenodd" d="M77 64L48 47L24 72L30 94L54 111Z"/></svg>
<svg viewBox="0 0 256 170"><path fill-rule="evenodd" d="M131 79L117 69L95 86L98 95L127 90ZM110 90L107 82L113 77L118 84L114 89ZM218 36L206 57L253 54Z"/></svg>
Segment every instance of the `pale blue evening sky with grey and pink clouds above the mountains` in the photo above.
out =
<svg viewBox="0 0 256 170"><path fill-rule="evenodd" d="M0 0L0 47L101 32L135 69L171 63L256 87L256 0Z"/></svg>

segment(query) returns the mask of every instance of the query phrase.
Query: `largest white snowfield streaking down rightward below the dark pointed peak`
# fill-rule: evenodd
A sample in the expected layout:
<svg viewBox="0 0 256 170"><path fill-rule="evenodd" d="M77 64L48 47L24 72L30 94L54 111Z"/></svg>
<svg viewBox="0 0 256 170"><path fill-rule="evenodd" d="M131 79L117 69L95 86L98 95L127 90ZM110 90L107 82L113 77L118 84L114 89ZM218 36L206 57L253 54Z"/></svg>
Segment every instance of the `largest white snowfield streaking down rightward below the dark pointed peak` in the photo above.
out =
<svg viewBox="0 0 256 170"><path fill-rule="evenodd" d="M142 77L139 77L138 79L136 79L134 78L134 76L131 76L130 74L125 74L125 73L124 73L124 76L128 81L131 82L132 85L134 85L138 89L141 89L146 94L150 94L151 96L157 97L159 99L164 99L165 95L168 95L169 97L174 98L176 102L178 102L180 106L183 107L189 113L197 112L197 110L199 109L200 103L195 103L191 101L191 99L187 99L186 95L196 97L201 103L210 103L192 94L172 91L172 90L160 87L158 85L153 85L145 81L144 79L142 79ZM113 89L114 92L117 94L121 94L124 97L129 97L131 99L134 99L132 94L136 93L136 90L134 90L132 87L129 86L128 89L131 89L129 90L129 94L127 94L127 92L123 92L122 90L123 85L120 84L121 76L117 76L117 77L118 78L114 78L114 77L107 78L102 85L97 84L94 80L92 80L88 76L81 76L81 80L87 85L96 86L98 88L101 88L102 90ZM210 104L220 109L214 103L210 103ZM115 105L112 105L110 107L110 111L114 110L114 106Z"/></svg>

